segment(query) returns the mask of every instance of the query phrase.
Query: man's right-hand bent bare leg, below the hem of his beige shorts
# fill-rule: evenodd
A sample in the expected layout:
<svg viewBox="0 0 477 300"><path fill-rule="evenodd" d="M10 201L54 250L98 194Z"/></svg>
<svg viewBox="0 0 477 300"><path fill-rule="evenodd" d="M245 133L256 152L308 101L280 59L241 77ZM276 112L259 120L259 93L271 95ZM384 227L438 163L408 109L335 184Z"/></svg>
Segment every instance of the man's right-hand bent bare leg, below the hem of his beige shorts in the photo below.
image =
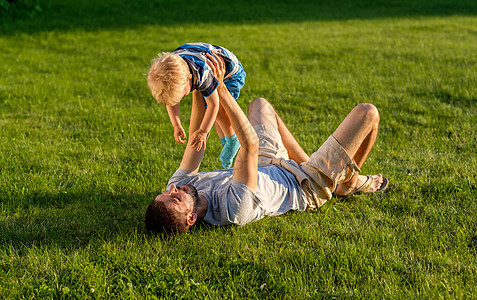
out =
<svg viewBox="0 0 477 300"><path fill-rule="evenodd" d="M333 133L333 136L359 168L362 167L374 146L378 135L378 125L379 113L376 107L372 104L360 104L346 116ZM373 177L374 181L368 188L368 192L378 190L383 183L381 174ZM336 193L341 196L352 193L362 186L366 179L367 177L364 175L355 174L349 181L340 183Z"/></svg>

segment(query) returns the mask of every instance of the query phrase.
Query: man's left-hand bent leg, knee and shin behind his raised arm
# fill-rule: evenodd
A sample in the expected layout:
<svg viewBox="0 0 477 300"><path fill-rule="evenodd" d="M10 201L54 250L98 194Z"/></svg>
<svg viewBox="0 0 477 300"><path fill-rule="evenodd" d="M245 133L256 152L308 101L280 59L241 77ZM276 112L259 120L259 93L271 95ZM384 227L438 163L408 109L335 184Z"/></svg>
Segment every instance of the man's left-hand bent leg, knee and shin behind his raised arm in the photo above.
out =
<svg viewBox="0 0 477 300"><path fill-rule="evenodd" d="M266 99L257 98L250 103L248 107L248 118L252 126L262 124L277 128L290 159L301 164L310 158L305 151L303 151L293 134L288 130L273 106Z"/></svg>

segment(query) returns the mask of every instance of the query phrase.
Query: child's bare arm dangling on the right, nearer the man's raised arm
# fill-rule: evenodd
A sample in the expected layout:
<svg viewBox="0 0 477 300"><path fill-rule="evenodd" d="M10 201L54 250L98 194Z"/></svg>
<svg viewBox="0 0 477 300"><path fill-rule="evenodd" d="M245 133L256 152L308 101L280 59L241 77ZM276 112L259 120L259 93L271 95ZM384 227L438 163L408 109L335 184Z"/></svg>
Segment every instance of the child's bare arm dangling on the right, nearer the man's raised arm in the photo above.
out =
<svg viewBox="0 0 477 300"><path fill-rule="evenodd" d="M191 146L197 147L197 151L204 148L207 142L207 136L210 129L214 125L217 113L219 112L219 94L217 90L214 91L209 97L204 98L207 103L207 110L205 111L204 118L200 124L200 128L196 130L191 136Z"/></svg>

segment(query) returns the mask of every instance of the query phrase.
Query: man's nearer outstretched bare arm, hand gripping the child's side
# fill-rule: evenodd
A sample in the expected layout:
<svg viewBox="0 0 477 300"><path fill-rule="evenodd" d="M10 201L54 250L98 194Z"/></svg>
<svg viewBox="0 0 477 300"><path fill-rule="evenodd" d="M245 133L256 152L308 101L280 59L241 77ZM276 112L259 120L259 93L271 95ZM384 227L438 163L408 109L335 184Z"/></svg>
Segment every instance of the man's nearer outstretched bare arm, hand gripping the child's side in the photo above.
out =
<svg viewBox="0 0 477 300"><path fill-rule="evenodd" d="M245 184L253 192L257 190L258 172L258 137L244 112L227 90L223 79L225 63L219 56L209 57L209 67L219 81L217 92L220 104L229 117L232 128L240 141L241 147L234 163L233 180Z"/></svg>

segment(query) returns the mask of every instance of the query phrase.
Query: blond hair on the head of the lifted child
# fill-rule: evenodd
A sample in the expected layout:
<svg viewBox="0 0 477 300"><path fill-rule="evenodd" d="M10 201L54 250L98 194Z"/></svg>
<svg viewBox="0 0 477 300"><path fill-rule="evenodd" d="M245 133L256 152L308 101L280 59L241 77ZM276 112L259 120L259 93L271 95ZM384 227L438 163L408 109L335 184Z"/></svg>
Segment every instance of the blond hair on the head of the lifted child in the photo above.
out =
<svg viewBox="0 0 477 300"><path fill-rule="evenodd" d="M147 73L147 85L158 103L174 106L184 96L189 67L177 54L160 53Z"/></svg>

